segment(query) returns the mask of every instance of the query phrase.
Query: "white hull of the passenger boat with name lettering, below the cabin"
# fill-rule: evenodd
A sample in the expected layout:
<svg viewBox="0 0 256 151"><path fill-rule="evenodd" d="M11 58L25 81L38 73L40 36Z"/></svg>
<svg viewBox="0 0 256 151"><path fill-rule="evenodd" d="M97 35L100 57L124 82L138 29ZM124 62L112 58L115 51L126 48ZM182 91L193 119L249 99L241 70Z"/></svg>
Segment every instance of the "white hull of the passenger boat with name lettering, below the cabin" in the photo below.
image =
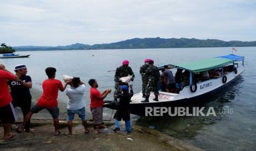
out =
<svg viewBox="0 0 256 151"><path fill-rule="evenodd" d="M210 94L215 93L220 88L223 88L236 77L241 75L244 71L244 66L237 68L237 74L235 72L230 72L226 75L226 83L222 82L222 77L217 79L210 79L204 82L197 83L197 91L191 92L190 86L183 88L179 94L172 94L167 92L159 92L159 101L153 101L155 98L154 93L151 92L149 97L149 102L143 103L141 101L145 100L142 97L142 93L134 94L132 97L132 102L130 102L130 113L136 115L145 115L145 107L171 107L173 104L189 104L190 102L199 101L198 98L205 97Z"/></svg>

